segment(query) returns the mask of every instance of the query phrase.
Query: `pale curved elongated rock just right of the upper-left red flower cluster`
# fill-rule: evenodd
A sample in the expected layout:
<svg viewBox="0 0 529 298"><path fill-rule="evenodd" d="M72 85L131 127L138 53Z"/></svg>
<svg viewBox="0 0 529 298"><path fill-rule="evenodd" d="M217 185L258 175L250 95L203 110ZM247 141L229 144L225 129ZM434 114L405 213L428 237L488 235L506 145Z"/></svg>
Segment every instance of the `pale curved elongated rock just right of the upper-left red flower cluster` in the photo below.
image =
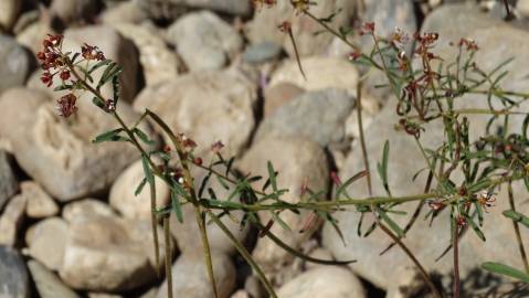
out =
<svg viewBox="0 0 529 298"><path fill-rule="evenodd" d="M142 25L117 23L114 28L136 44L147 86L157 85L178 76L181 63L161 36Z"/></svg>

